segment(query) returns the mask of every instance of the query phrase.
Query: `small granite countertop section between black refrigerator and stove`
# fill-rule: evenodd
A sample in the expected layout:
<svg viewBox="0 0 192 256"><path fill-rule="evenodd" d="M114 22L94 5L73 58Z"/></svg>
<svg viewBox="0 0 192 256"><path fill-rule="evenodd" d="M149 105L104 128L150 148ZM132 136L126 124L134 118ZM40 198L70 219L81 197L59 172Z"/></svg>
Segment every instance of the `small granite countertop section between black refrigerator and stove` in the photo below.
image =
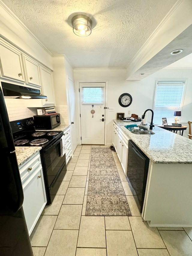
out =
<svg viewBox="0 0 192 256"><path fill-rule="evenodd" d="M41 149L42 147L15 147L18 166L24 164L32 155Z"/></svg>

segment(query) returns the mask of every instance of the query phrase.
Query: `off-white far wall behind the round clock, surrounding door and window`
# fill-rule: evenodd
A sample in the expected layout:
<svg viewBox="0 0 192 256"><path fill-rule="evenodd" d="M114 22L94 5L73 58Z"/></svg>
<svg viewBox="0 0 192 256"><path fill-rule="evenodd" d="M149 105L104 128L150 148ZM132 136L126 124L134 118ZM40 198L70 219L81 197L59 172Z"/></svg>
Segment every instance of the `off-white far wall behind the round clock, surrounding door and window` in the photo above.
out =
<svg viewBox="0 0 192 256"><path fill-rule="evenodd" d="M125 69L74 69L74 78L76 86L80 81L108 81L107 104L106 107L114 107L114 112L107 112L107 141L106 144L112 144L112 123L116 119L116 113L125 113L128 117L128 110L131 114L137 114L141 117L146 109L153 109L155 83L157 79L182 79L188 80L187 89L184 98L184 107L182 109L181 122L183 125L192 120L192 70L163 69L140 81L125 80ZM122 93L131 94L133 101L129 107L119 105L119 96ZM174 118L173 118L174 119ZM148 113L148 121L151 120L151 113ZM187 137L188 129L184 132Z"/></svg>

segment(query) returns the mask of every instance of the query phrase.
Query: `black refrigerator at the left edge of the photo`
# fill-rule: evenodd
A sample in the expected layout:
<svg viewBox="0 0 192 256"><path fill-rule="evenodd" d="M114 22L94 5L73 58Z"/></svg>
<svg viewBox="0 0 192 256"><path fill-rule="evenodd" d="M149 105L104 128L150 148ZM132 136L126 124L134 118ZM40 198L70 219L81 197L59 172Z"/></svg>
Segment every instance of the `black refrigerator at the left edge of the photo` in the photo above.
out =
<svg viewBox="0 0 192 256"><path fill-rule="evenodd" d="M13 135L0 87L0 255L33 256L23 213L23 189Z"/></svg>

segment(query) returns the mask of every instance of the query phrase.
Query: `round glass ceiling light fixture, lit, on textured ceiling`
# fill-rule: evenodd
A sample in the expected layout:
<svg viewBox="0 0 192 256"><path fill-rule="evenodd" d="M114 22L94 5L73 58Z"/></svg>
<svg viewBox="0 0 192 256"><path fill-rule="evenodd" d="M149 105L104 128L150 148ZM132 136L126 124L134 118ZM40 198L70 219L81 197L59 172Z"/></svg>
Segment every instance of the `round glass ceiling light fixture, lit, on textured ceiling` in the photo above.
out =
<svg viewBox="0 0 192 256"><path fill-rule="evenodd" d="M92 22L89 17L85 15L76 15L73 17L71 23L75 35L86 37L91 34Z"/></svg>

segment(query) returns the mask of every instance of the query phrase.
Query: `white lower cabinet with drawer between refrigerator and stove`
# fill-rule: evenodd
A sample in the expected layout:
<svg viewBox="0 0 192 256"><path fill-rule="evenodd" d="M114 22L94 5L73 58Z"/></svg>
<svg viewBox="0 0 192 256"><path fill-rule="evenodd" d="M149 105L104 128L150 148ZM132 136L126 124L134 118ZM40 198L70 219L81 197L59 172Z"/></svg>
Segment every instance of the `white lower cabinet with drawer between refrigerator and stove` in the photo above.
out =
<svg viewBox="0 0 192 256"><path fill-rule="evenodd" d="M47 202L40 153L22 164L19 172L24 194L22 206L30 235Z"/></svg>

